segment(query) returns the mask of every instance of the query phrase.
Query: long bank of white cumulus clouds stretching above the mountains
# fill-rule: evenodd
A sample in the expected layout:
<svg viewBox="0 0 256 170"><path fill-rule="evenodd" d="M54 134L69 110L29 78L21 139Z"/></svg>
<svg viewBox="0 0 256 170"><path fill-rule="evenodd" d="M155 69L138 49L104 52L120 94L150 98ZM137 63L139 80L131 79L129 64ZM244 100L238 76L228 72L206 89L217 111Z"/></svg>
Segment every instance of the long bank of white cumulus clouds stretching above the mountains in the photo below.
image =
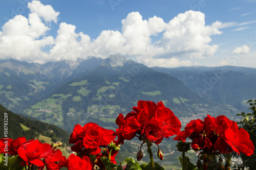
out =
<svg viewBox="0 0 256 170"><path fill-rule="evenodd" d="M193 58L209 57L218 45L209 45L210 36L222 34L219 21L205 25L202 12L186 11L169 22L153 16L143 19L131 12L121 21L122 31L104 30L96 39L65 22L59 24L57 36L47 36L50 25L57 23L59 12L39 1L28 3L31 13L26 18L17 15L0 32L0 59L13 58L30 62L86 59L88 56L106 58L119 53L136 57L147 66L188 66ZM152 37L158 41L153 42ZM50 45L50 51L42 47Z"/></svg>

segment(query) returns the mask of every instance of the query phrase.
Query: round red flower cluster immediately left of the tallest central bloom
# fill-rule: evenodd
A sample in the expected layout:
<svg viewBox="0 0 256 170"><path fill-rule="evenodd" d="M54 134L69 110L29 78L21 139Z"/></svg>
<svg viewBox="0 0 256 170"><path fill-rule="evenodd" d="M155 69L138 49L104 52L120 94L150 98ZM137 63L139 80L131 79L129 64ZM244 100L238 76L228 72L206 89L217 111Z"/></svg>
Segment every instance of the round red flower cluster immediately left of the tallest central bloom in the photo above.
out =
<svg viewBox="0 0 256 170"><path fill-rule="evenodd" d="M74 143L71 147L80 158L90 157L92 167L95 165L104 168L100 158L109 157L112 163L116 164L115 156L119 147L115 144L116 136L113 130L104 129L95 123L88 123L81 127L76 125L70 135L69 143ZM101 152L103 150L103 152Z"/></svg>

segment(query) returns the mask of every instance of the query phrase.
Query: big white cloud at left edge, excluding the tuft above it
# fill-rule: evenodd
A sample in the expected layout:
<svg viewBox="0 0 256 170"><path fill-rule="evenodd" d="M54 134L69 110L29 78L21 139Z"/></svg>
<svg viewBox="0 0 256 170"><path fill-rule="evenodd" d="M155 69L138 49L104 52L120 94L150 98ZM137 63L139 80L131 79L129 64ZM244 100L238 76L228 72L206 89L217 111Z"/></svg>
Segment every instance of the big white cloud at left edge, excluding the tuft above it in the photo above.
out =
<svg viewBox="0 0 256 170"><path fill-rule="evenodd" d="M44 36L49 28L40 22L36 14L30 14L29 19L16 15L5 23L2 30L0 59L13 58L34 62L47 60L48 54L42 52L40 48L53 44L53 37ZM44 37L37 39L40 36Z"/></svg>

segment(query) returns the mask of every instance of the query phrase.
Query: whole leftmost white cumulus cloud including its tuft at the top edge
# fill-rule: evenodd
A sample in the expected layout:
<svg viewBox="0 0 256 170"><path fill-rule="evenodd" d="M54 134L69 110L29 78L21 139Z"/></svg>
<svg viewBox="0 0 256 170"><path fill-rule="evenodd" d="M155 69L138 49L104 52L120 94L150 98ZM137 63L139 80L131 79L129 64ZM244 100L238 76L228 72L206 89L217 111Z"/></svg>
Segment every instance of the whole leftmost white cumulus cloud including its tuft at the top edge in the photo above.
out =
<svg viewBox="0 0 256 170"><path fill-rule="evenodd" d="M49 53L42 52L41 48L53 45L54 38L46 36L49 27L42 22L57 21L51 6L44 6L39 1L28 3L31 11L29 17L16 15L2 27L0 34L0 59L16 59L29 62L44 63L50 60ZM50 16L53 15L53 16Z"/></svg>

